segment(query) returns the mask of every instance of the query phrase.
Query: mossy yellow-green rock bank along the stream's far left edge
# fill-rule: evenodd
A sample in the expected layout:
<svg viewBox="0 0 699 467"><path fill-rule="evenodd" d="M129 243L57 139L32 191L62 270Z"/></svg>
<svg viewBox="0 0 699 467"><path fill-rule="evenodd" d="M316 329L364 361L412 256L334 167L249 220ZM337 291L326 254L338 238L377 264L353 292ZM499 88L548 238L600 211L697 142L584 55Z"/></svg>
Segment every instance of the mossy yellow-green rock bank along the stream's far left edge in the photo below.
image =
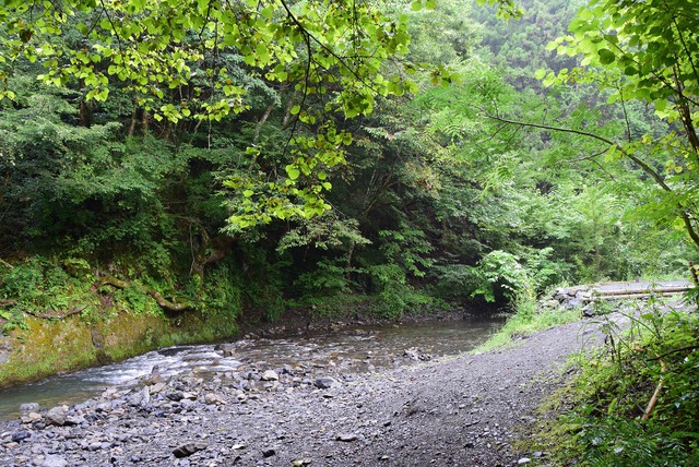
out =
<svg viewBox="0 0 699 467"><path fill-rule="evenodd" d="M230 337L235 320L223 315L112 313L61 320L26 316L0 337L0 387L68 370L121 360L159 347Z"/></svg>

